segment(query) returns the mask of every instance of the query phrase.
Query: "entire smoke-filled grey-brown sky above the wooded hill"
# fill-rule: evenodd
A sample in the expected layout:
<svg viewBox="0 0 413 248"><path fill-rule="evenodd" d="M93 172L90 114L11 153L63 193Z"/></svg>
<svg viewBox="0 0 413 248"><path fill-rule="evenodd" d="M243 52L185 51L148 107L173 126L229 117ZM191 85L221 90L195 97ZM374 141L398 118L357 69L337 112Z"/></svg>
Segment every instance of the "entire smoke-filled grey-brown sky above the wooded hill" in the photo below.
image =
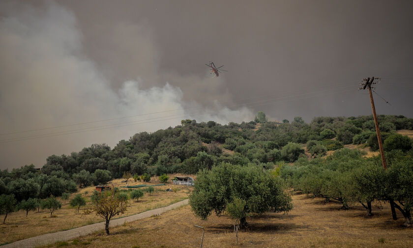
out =
<svg viewBox="0 0 413 248"><path fill-rule="evenodd" d="M181 119L413 117L413 1L0 3L0 168ZM224 64L218 78L205 63ZM132 117L133 116L133 117ZM102 121L105 120L105 121Z"/></svg>

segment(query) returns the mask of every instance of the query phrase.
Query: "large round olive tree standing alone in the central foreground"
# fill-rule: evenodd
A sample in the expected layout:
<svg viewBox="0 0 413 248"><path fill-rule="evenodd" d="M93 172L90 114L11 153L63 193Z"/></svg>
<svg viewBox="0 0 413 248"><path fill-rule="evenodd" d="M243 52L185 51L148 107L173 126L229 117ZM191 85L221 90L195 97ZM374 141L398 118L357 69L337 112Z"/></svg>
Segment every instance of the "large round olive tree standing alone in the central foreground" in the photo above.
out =
<svg viewBox="0 0 413 248"><path fill-rule="evenodd" d="M234 199L245 201L242 209ZM214 212L220 216L228 204L236 204L237 214L232 207L230 213L239 220L240 228L248 225L246 217L263 214L268 210L289 211L291 197L284 193L281 181L256 165L231 165L223 163L203 169L197 174L194 191L189 196L189 204L195 215L207 219ZM231 212L232 211L232 212Z"/></svg>

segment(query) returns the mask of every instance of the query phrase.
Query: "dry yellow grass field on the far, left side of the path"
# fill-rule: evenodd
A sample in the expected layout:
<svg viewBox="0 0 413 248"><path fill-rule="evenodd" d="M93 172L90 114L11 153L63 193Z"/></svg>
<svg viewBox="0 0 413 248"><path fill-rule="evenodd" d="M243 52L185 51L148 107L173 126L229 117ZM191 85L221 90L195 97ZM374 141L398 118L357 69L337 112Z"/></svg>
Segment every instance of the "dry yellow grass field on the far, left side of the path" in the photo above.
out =
<svg viewBox="0 0 413 248"><path fill-rule="evenodd" d="M172 178L174 176L172 176ZM129 185L155 185L160 183L157 177L152 177L152 179L153 180L150 183L134 182L133 180L131 182L131 180L129 180ZM122 179L114 180L114 186L125 186L126 184L121 183L121 181ZM167 192L166 190L169 188L176 188L177 192ZM102 218L94 214L82 214L82 209L87 208L90 205L90 195L94 189L94 187L84 188L70 196L70 199L72 199L76 194L82 193L82 196L87 199L87 205L81 207L79 214L77 213L76 208L73 208L69 205L70 199L66 200L65 204L63 204L63 200L59 199L62 202L62 208L56 210L52 218L50 218L50 212L47 209L40 209L40 212L31 211L29 212L28 217L26 217L26 212L24 211L9 213L6 219L6 223L0 225L0 244L11 243L33 236L68 230L79 226L103 221ZM142 190L145 188L140 189ZM130 216L150 209L170 205L187 198L190 191L192 190L192 188L188 186L172 184L157 186L154 187L154 189L155 191L152 194L149 195L148 193L145 193L138 202L136 202L135 199L129 199L127 211L123 215L117 216L116 218ZM1 220L3 220L4 215L1 215L0 218Z"/></svg>

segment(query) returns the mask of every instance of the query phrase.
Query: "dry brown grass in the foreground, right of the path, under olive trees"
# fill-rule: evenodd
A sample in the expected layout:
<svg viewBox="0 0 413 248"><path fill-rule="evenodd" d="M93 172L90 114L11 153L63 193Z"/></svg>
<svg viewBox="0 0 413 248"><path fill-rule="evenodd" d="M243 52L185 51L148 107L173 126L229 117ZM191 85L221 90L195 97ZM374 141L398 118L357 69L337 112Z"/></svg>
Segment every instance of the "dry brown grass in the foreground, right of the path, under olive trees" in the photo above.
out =
<svg viewBox="0 0 413 248"><path fill-rule="evenodd" d="M404 220L393 221L387 204L373 205L373 217L364 208L353 205L341 210L338 202L293 195L294 209L289 214L268 213L247 218L248 230L238 233L237 247L248 248L411 248L413 228L403 227ZM400 217L400 215L399 215ZM47 247L84 248L195 248L201 244L205 227L205 248L236 247L233 221L212 215L200 220L190 206L138 220L79 239Z"/></svg>

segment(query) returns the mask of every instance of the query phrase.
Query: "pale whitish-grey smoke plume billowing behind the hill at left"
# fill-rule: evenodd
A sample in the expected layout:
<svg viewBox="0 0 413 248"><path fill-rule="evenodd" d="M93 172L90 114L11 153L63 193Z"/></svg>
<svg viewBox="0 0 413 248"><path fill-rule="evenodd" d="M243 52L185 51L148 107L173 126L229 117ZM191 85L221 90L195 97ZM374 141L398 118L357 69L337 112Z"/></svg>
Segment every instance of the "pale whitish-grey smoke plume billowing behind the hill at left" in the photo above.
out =
<svg viewBox="0 0 413 248"><path fill-rule="evenodd" d="M137 40L125 42L138 42L141 53L125 64L136 66L142 75L114 87L85 55L73 13L53 2L42 7L4 3L0 8L7 13L0 20L0 169L31 163L38 167L47 156L69 154L92 143L113 147L135 133L179 125L181 119L228 123L253 118L247 108L197 103L185 97L184 88L167 83L169 74L181 87L199 87L207 94L220 89L220 78L174 72L157 77L156 47L144 28L125 25L116 30L134 30ZM144 88L144 80L156 86ZM135 117L119 118L125 116ZM107 119L112 120L93 122ZM27 130L35 131L21 132Z"/></svg>

